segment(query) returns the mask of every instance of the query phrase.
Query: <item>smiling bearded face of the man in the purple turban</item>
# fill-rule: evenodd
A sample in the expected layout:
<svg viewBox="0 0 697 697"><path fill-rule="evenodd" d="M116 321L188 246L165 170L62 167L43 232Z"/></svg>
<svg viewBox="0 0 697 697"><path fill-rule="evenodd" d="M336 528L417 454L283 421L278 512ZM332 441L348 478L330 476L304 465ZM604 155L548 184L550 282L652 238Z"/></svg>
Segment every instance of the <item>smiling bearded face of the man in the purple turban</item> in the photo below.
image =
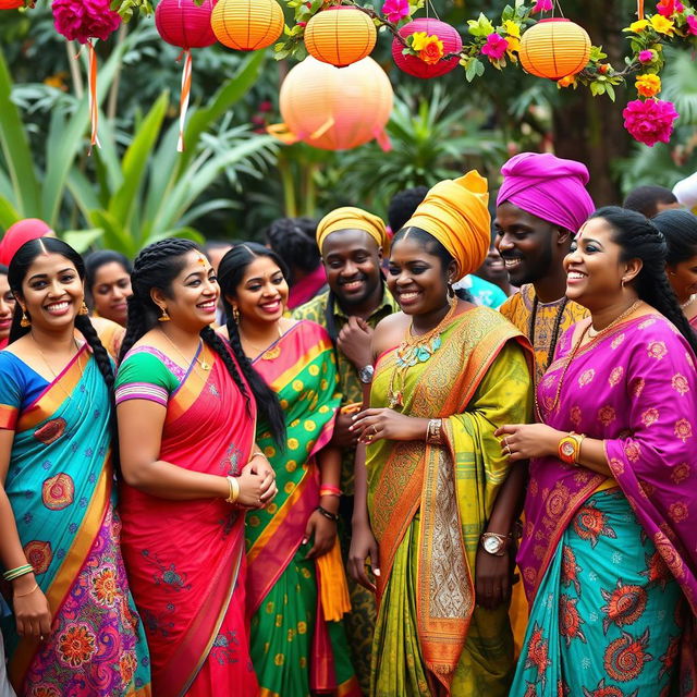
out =
<svg viewBox="0 0 697 697"><path fill-rule="evenodd" d="M535 283L550 273L555 247L567 244L568 234L511 203L497 207L494 245L513 285ZM561 262L561 255L559 255Z"/></svg>

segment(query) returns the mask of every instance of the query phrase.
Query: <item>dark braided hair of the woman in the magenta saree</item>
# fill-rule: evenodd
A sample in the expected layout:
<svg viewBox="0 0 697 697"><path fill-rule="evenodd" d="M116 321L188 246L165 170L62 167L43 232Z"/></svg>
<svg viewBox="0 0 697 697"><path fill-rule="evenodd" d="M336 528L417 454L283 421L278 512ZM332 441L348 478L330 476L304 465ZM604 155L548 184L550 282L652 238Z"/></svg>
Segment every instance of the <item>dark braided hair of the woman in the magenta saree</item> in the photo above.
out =
<svg viewBox="0 0 697 697"><path fill-rule="evenodd" d="M641 213L619 206L599 208L590 218L602 218L613 229L612 240L622 247L622 262L641 260L641 270L632 281L639 298L673 322L697 353L697 337L665 276L668 245L663 233Z"/></svg>

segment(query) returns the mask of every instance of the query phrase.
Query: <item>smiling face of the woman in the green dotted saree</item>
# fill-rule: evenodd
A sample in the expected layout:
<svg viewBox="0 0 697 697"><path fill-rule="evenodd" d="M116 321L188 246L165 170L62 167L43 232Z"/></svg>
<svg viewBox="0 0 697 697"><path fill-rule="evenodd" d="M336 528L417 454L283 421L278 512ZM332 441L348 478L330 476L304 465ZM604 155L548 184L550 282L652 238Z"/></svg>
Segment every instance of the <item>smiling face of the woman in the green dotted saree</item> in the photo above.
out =
<svg viewBox="0 0 697 697"><path fill-rule="evenodd" d="M255 257L245 269L235 297L228 302L240 310L241 322L276 322L285 311L289 288L283 271L266 256Z"/></svg>

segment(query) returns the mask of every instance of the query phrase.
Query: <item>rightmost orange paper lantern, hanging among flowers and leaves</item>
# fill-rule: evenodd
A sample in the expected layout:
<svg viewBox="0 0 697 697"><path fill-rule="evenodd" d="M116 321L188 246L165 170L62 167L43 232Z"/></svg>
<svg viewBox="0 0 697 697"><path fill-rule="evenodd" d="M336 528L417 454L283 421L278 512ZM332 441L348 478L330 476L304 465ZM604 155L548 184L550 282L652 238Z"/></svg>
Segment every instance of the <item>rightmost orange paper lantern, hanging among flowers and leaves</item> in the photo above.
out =
<svg viewBox="0 0 697 697"><path fill-rule="evenodd" d="M587 65L590 37L586 29L568 20L540 20L523 34L518 54L528 73L561 80L579 73Z"/></svg>

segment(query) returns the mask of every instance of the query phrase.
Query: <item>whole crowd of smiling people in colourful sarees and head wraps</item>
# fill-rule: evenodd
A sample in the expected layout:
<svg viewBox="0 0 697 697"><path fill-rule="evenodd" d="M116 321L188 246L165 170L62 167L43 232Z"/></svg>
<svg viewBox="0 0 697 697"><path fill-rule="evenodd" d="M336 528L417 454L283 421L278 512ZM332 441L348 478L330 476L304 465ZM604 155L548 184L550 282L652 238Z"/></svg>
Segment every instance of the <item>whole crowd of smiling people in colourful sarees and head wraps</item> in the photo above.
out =
<svg viewBox="0 0 697 697"><path fill-rule="evenodd" d="M697 216L501 176L5 233L1 697L697 695Z"/></svg>

